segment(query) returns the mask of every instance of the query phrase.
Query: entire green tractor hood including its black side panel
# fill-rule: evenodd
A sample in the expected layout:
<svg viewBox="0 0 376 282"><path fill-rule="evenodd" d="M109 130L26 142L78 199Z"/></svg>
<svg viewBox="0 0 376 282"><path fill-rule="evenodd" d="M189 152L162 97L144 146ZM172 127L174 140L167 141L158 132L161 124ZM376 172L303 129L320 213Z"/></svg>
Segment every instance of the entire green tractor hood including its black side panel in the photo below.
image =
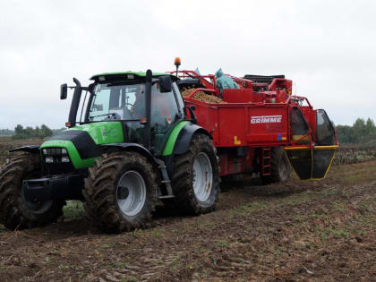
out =
<svg viewBox="0 0 376 282"><path fill-rule="evenodd" d="M67 150L73 167L90 167L102 150L98 145L124 142L123 127L120 122L100 122L82 124L60 132L44 142L41 150L62 148Z"/></svg>

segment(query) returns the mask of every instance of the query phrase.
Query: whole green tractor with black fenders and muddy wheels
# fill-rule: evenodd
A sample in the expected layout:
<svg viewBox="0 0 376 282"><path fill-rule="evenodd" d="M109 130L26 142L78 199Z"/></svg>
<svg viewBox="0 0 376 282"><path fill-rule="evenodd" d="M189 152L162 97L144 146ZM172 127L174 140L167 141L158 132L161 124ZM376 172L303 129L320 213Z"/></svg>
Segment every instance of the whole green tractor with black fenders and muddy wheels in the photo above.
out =
<svg viewBox="0 0 376 282"><path fill-rule="evenodd" d="M15 230L56 222L67 200L83 201L107 233L147 226L158 201L189 215L215 209L218 157L184 106L178 78L148 70L91 80L61 86L62 99L74 89L68 129L11 150L22 153L0 168L0 223Z"/></svg>

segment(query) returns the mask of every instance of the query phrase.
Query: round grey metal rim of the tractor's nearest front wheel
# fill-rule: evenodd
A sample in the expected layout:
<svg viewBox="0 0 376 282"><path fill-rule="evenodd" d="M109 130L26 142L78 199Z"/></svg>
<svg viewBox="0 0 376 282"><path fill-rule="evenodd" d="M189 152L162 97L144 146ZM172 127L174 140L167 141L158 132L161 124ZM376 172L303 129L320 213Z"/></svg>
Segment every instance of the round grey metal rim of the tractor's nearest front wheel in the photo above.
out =
<svg viewBox="0 0 376 282"><path fill-rule="evenodd" d="M116 188L116 201L127 217L141 211L146 201L146 185L137 171L130 170L122 175Z"/></svg>

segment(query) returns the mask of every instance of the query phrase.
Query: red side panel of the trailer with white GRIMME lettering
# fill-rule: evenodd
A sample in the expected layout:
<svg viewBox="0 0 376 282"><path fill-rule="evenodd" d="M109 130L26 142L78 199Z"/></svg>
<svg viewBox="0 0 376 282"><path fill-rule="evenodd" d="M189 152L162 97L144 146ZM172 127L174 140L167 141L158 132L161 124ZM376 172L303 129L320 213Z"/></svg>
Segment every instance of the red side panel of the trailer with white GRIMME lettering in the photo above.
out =
<svg viewBox="0 0 376 282"><path fill-rule="evenodd" d="M273 147L289 142L286 105L208 104L188 99L185 103L195 105L194 114L216 147Z"/></svg>

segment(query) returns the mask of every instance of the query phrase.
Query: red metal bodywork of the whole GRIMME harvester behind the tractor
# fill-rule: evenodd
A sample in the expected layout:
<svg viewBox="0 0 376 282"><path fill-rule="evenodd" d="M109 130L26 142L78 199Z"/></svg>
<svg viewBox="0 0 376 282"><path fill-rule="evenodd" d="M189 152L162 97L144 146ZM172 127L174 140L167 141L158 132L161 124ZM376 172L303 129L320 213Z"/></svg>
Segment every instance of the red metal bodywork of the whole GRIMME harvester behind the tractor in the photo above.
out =
<svg viewBox="0 0 376 282"><path fill-rule="evenodd" d="M180 71L179 76L199 79L205 87L196 89L184 101L186 106L196 107L194 114L198 124L213 138L218 149L221 176L261 171L262 148L299 146L299 141L304 139L312 144L315 139L312 132L316 131L316 110L307 98L291 96L292 81L275 78L270 83L256 83L228 75L239 89L225 89L220 94L214 75ZM225 103L194 99L194 93L199 90L221 97ZM301 106L304 100L307 106ZM292 107L298 107L303 113L309 127L308 135L293 136Z"/></svg>

